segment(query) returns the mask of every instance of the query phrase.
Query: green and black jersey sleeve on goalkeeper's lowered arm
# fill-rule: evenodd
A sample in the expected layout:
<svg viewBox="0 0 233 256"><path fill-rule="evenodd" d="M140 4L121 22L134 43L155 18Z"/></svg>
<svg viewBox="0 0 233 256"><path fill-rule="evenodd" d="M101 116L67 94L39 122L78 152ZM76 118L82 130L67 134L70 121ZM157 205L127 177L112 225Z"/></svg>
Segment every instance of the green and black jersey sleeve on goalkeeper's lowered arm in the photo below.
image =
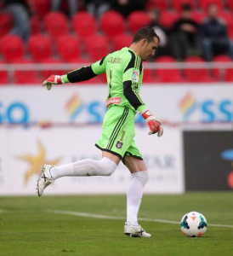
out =
<svg viewBox="0 0 233 256"><path fill-rule="evenodd" d="M128 50L131 57L125 63L123 69L123 92L128 102L134 107L135 110L145 103L139 96L139 82L142 76L142 61L138 55L133 51Z"/></svg>

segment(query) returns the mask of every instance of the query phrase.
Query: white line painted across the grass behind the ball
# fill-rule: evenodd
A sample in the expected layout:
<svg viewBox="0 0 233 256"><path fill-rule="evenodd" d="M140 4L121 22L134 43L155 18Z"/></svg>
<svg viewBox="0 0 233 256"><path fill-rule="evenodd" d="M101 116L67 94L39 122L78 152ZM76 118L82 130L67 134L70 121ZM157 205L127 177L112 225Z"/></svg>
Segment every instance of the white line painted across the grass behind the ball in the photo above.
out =
<svg viewBox="0 0 233 256"><path fill-rule="evenodd" d="M79 217L88 217L88 218L125 219L124 217L91 214L88 212L70 212L70 211L60 211L60 210L48 210L48 212L52 212L52 213L56 213L56 214L79 216ZM159 218L139 218L139 220L149 221L149 222L166 223L166 224L180 224L179 221L159 219ZM220 228L231 228L231 229L233 228L233 225L224 225L224 224L208 224L208 226L220 227Z"/></svg>

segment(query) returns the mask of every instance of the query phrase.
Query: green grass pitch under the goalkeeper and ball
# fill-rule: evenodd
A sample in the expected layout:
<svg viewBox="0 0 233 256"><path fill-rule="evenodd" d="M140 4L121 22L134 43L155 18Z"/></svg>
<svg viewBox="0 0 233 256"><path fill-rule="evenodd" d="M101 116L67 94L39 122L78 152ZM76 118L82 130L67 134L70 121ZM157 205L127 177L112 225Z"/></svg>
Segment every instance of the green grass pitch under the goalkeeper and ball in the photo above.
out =
<svg viewBox="0 0 233 256"><path fill-rule="evenodd" d="M45 191L46 194L46 191ZM145 195L140 218L179 221L202 212L202 237L183 236L179 224L140 221L151 238L123 235L123 219L56 214L48 210L125 217L125 195L0 197L0 255L233 255L233 193Z"/></svg>

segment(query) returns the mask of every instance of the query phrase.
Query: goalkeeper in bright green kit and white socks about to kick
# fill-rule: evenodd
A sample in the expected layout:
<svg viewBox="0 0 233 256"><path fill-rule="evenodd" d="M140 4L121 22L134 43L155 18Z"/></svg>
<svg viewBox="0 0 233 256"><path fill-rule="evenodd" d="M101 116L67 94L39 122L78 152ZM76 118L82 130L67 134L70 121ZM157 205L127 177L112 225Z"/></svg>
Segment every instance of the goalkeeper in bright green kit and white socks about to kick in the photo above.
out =
<svg viewBox="0 0 233 256"><path fill-rule="evenodd" d="M82 67L63 76L51 75L43 82L48 90L54 84L77 83L106 73L109 96L108 111L103 121L102 136L95 144L102 150L102 160L80 160L64 166L43 165L37 181L37 194L55 179L65 176L110 176L120 160L132 174L127 192L127 236L150 237L138 224L138 212L148 172L142 155L134 142L134 117L141 113L147 122L149 134L162 136L162 125L152 115L139 96L143 78L142 61L154 55L159 43L156 32L148 26L139 29L130 47L122 48L103 57L89 67Z"/></svg>

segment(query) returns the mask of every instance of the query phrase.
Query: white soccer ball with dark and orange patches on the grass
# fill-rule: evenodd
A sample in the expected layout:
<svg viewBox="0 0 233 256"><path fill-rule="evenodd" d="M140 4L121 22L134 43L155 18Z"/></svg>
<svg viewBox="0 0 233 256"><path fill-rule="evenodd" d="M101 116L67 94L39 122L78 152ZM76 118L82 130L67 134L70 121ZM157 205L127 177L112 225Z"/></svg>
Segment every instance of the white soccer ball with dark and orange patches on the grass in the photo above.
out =
<svg viewBox="0 0 233 256"><path fill-rule="evenodd" d="M181 218L180 230L185 236L202 236L207 231L207 219L200 212L189 212Z"/></svg>

